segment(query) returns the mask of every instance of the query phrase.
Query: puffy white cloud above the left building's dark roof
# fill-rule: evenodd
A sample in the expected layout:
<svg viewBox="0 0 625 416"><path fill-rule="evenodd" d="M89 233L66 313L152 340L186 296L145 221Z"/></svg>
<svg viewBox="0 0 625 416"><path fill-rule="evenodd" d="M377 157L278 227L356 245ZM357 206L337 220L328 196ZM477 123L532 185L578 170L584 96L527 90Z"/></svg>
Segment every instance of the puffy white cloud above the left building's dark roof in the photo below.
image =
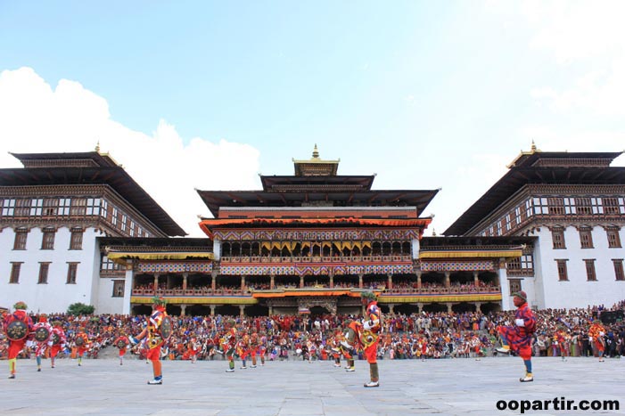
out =
<svg viewBox="0 0 625 416"><path fill-rule="evenodd" d="M247 144L194 137L160 120L146 135L111 119L106 99L78 82L53 88L30 68L0 73L0 167L20 167L11 152L93 151L100 143L192 237L197 215L210 216L195 188L258 188L259 151Z"/></svg>

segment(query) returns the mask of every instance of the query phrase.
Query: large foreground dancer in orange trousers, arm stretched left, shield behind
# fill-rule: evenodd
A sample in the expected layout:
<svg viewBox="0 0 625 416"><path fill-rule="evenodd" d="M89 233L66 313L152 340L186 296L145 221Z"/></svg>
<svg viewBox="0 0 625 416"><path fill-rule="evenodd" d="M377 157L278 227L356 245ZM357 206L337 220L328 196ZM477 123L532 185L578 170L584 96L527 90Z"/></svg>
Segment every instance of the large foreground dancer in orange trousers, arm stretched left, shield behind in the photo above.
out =
<svg viewBox="0 0 625 416"><path fill-rule="evenodd" d="M148 381L148 384L163 384L163 375L160 363L160 347L165 344L173 332L172 322L169 315L165 312L167 302L163 298L152 298L152 314L148 318L147 327L135 337L128 337L132 344L138 343L141 339L147 337L147 359L152 362L152 372L154 379Z"/></svg>

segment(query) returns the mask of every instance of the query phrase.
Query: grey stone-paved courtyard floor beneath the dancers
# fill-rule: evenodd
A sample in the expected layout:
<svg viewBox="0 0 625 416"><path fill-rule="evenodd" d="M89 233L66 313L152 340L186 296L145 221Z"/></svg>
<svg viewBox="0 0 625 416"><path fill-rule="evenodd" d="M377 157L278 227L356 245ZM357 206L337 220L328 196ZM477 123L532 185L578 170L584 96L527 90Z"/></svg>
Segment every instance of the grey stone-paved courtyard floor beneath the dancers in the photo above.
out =
<svg viewBox="0 0 625 416"><path fill-rule="evenodd" d="M226 373L225 361L163 362L164 383L148 386L152 365L129 358L70 359L55 369L45 360L18 361L17 379L0 379L0 415L325 415L520 414L529 401L530 415L625 415L625 359L534 358L535 380L520 383L522 360L491 357L380 362L381 387L364 388L366 362L346 372L333 363L268 362L264 367ZM618 401L619 410L555 410L545 401ZM599 402L596 402L597 404ZM499 410L506 404L506 410ZM595 405L597 405L595 404ZM602 404L603 405L603 404ZM540 410L542 409L542 410Z"/></svg>

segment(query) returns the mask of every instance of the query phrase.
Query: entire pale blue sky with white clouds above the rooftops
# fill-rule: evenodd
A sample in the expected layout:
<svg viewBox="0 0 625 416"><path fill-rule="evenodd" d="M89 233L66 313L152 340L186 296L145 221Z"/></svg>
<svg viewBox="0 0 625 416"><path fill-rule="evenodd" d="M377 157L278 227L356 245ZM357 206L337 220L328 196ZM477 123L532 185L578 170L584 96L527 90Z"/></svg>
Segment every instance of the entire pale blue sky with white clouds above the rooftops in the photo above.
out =
<svg viewBox="0 0 625 416"><path fill-rule="evenodd" d="M7 151L101 143L193 236L198 189L315 143L444 231L519 151L625 149L622 2L0 0ZM623 166L623 158L617 160ZM167 166L167 169L163 169Z"/></svg>

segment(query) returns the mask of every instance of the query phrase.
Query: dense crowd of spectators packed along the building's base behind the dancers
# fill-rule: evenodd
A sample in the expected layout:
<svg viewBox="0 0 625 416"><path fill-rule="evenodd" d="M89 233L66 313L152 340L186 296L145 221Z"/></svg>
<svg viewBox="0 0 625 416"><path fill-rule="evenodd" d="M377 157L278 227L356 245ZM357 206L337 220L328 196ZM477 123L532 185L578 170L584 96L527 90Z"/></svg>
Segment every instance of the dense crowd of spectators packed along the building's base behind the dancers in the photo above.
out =
<svg viewBox="0 0 625 416"><path fill-rule="evenodd" d="M625 301L610 308L544 309L534 311L537 331L534 334L534 355L542 356L593 356L592 342L588 339L590 324L605 311L623 311ZM37 314L32 314L37 322ZM51 314L50 321L58 318L66 332L67 356L75 354L74 339L84 328L91 341L88 355L97 358L102 348L112 346L121 333L137 334L142 330L145 316L100 314L72 316ZM172 316L174 334L169 339L166 358L185 359L187 346L193 337L201 344L198 359L222 359L221 339L229 325L236 324L239 333L256 331L266 335L268 359L297 359L314 355L325 359L331 341L358 316L344 314L249 316ZM384 314L378 356L381 359L438 359L488 356L498 346L497 326L514 322L514 311L481 314L432 313ZM625 354L625 322L604 324L606 357ZM0 359L6 358L7 340L0 336ZM111 347L112 348L112 347ZM303 351L303 353L302 353ZM141 349L133 351L142 356ZM24 351L22 356L29 356Z"/></svg>

